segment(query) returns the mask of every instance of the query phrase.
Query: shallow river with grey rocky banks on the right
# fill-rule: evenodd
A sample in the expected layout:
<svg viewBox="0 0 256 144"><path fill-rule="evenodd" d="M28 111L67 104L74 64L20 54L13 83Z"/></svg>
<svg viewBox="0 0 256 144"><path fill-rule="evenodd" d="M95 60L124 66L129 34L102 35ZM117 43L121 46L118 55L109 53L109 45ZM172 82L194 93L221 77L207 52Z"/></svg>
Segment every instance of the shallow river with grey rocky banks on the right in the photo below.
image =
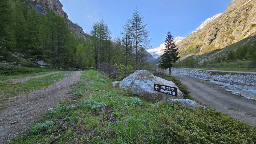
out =
<svg viewBox="0 0 256 144"><path fill-rule="evenodd" d="M191 69L173 68L172 72L209 80L221 85L226 91L247 99L256 100L256 76L248 74L218 73Z"/></svg>

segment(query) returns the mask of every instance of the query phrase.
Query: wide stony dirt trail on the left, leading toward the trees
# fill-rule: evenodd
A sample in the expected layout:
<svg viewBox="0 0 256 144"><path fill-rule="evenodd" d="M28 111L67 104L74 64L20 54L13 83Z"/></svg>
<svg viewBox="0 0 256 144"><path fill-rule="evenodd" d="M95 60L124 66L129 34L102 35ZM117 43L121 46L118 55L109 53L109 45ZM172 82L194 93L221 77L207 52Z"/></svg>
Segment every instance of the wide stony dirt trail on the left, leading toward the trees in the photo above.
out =
<svg viewBox="0 0 256 144"><path fill-rule="evenodd" d="M7 143L15 135L23 135L49 108L71 99L69 92L80 75L81 72L74 72L53 85L20 94L5 102L5 109L0 110L0 143ZM17 123L11 125L13 121Z"/></svg>

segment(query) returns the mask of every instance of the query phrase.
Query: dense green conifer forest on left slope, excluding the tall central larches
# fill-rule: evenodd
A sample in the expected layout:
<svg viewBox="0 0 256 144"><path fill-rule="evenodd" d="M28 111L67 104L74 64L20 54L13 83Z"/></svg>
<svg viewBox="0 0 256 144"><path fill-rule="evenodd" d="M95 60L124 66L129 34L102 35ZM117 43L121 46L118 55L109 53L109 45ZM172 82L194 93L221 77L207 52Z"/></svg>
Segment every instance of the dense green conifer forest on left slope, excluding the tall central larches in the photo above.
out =
<svg viewBox="0 0 256 144"><path fill-rule="evenodd" d="M50 9L41 15L18 0L0 2L1 59L13 61L15 52L33 61L45 60L52 68L90 65L90 43L75 37L66 20Z"/></svg>

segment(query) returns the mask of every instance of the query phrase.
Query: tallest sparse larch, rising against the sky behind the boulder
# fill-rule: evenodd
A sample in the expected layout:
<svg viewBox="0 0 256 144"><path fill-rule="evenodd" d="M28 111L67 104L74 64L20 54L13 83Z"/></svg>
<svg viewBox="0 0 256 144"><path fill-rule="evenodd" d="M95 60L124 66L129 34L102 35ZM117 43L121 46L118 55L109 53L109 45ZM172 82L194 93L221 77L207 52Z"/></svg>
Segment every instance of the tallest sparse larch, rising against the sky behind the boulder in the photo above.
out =
<svg viewBox="0 0 256 144"><path fill-rule="evenodd" d="M144 24L142 20L143 16L141 12L136 8L134 9L133 15L130 19L131 23L131 33L133 36L132 45L135 47L135 61L136 61L136 70L138 69L139 61L139 48L147 49L150 45L149 31L146 30L147 24Z"/></svg>

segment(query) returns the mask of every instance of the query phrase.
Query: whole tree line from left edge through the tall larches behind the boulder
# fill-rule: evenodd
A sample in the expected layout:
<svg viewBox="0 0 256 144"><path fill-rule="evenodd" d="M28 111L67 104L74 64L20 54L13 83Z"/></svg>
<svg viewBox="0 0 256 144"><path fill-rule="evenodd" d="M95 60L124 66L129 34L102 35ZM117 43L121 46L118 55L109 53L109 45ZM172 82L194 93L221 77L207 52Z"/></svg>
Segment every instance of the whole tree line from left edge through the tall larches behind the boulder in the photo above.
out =
<svg viewBox="0 0 256 144"><path fill-rule="evenodd" d="M84 39L76 37L67 21L53 9L41 15L36 8L27 8L19 0L2 0L0 60L19 63L13 54L20 53L33 63L44 60L54 69L88 66L98 69L104 62L138 69L139 65L146 64L145 49L150 44L146 26L136 8L131 19L125 22L122 38L117 42L110 41L111 31L104 19L95 22L91 35ZM35 66L33 63L28 66Z"/></svg>

